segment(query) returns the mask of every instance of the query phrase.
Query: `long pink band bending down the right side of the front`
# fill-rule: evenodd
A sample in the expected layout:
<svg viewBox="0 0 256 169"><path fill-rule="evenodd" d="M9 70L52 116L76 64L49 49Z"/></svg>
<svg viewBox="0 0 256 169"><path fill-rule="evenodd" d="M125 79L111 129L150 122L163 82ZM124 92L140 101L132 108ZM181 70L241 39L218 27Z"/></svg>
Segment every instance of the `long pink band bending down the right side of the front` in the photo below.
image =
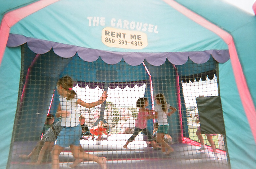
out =
<svg viewBox="0 0 256 169"><path fill-rule="evenodd" d="M236 85L238 88L238 93L240 96L240 99L242 101L242 105L244 107L244 112L246 114L247 120L249 122L252 135L254 138L254 141L256 143L256 110L255 106L252 100L251 93L249 91L248 85L246 83L246 79L244 77L243 69L241 66L241 63L239 61L236 47L234 40L232 36L227 33L226 31L222 30L220 27L212 24L211 22L207 21L203 17L197 15L196 13L188 10L184 6L178 4L177 2L173 0L163 0L165 3L172 6L174 9L185 15L186 17L190 18L191 20L195 21L196 23L200 24L201 26L204 26L208 30L216 33L220 38L222 38L227 44L228 44L228 50L231 60L232 69L234 72ZM253 4L254 9L256 8L256 2ZM255 12L255 11L254 11Z"/></svg>

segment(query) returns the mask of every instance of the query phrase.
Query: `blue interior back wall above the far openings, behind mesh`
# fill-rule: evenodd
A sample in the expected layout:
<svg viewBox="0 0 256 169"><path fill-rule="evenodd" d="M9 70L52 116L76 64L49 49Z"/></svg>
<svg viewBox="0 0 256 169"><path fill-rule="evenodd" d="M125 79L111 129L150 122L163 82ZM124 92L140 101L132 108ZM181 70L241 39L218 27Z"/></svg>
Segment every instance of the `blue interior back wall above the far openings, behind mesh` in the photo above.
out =
<svg viewBox="0 0 256 169"><path fill-rule="evenodd" d="M131 82L148 80L148 74L142 64L138 66L128 65L122 59L120 62L110 65L101 58L94 62L85 62L79 56L71 58L71 62L60 73L62 76L70 76L75 81L82 82Z"/></svg>

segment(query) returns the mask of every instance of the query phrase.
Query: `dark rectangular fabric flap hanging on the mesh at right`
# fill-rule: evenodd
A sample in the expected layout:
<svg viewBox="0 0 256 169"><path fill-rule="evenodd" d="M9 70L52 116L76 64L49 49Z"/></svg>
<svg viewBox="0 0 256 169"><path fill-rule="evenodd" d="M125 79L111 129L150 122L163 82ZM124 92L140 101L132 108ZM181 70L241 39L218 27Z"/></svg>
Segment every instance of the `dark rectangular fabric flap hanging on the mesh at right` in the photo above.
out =
<svg viewBox="0 0 256 169"><path fill-rule="evenodd" d="M219 96L196 98L201 131L204 134L225 134Z"/></svg>

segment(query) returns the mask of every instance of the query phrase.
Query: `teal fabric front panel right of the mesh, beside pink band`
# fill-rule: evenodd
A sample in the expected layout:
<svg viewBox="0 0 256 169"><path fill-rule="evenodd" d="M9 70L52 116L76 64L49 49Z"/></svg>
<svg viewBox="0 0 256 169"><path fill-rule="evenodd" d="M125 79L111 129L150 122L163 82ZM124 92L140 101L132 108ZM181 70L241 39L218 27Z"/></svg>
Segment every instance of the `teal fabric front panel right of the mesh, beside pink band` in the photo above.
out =
<svg viewBox="0 0 256 169"><path fill-rule="evenodd" d="M230 60L219 64L220 99L232 169L256 166L256 145L237 91Z"/></svg>

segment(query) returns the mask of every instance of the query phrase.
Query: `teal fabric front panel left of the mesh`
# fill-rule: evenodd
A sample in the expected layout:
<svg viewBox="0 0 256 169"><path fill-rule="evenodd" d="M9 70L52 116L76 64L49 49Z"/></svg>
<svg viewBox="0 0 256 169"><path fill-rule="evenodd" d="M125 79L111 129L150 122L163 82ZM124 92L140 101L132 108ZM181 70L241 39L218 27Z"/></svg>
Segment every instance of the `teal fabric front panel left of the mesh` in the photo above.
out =
<svg viewBox="0 0 256 169"><path fill-rule="evenodd" d="M6 168L20 82L20 47L6 48L0 66L0 168Z"/></svg>

